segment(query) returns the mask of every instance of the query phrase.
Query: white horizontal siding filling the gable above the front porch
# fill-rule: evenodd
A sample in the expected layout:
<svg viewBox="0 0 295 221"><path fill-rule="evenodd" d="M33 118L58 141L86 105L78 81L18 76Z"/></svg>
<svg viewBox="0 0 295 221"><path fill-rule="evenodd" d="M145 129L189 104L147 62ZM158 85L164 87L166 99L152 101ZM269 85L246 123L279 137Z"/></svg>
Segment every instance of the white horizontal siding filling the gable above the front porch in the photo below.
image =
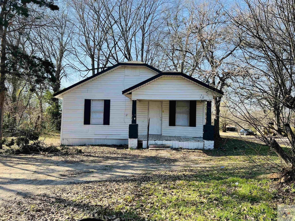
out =
<svg viewBox="0 0 295 221"><path fill-rule="evenodd" d="M181 77L162 77L133 91L132 99L212 100L213 93Z"/></svg>

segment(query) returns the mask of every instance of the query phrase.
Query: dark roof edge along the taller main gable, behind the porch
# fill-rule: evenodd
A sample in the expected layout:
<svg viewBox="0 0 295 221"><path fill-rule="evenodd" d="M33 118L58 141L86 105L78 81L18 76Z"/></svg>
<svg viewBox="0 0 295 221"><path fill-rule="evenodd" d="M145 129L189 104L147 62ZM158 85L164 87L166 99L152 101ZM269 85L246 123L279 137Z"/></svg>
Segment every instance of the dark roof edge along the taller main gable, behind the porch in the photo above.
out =
<svg viewBox="0 0 295 221"><path fill-rule="evenodd" d="M85 79L83 79L83 80L81 80L81 81L79 81L79 82L77 82L77 83L75 83L75 84L67 87L67 88L64 88L63 90L58 91L57 93L53 94L53 97L58 96L58 95L60 95L62 93L65 93L66 91L68 91L68 90L70 90L70 89L72 89L72 88L74 88L74 87L76 87L76 86L78 86L78 85L80 85L80 84L88 81L88 80L91 80L92 78L98 77L99 75L102 75L105 72L108 72L108 71L110 71L110 70L112 70L112 69L114 69L116 67L119 67L119 66L135 66L135 67L145 66L145 67L147 67L147 68L149 68L149 69L151 69L151 70L153 70L155 72L158 72L158 73L161 72L157 68L155 68L155 67L153 67L151 65L148 65L146 63L139 62L139 61L120 62L120 63L118 63L116 65L113 65L113 66L110 66L110 67L105 68L104 70L100 71L99 73L97 73L95 75L92 75L90 77L87 77L87 78L85 78Z"/></svg>

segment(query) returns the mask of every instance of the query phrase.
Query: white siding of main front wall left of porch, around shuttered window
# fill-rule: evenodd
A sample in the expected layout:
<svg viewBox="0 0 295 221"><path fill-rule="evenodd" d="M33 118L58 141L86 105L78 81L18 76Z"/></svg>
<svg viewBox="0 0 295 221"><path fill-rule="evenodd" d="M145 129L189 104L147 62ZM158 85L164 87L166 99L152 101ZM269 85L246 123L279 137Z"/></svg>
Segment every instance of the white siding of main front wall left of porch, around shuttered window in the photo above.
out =
<svg viewBox="0 0 295 221"><path fill-rule="evenodd" d="M131 123L132 100L122 95L125 90L154 75L155 72L140 67L139 76L125 76L125 68L118 68L86 85L63 95L62 144L97 144L114 139L115 143L128 143L128 126ZM84 125L84 99L110 99L110 125ZM77 140L78 139L78 140ZM104 143L103 143L104 144Z"/></svg>

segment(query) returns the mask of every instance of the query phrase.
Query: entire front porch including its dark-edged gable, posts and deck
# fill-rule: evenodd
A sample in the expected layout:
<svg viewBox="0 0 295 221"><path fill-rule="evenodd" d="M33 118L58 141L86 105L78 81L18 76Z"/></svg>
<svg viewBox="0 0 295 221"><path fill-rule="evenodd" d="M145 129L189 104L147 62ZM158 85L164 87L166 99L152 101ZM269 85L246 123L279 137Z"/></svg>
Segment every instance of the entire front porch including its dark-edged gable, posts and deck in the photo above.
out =
<svg viewBox="0 0 295 221"><path fill-rule="evenodd" d="M146 148L150 144L213 148L211 101L219 93L210 86L183 73L162 72L122 94L132 100L130 148Z"/></svg>

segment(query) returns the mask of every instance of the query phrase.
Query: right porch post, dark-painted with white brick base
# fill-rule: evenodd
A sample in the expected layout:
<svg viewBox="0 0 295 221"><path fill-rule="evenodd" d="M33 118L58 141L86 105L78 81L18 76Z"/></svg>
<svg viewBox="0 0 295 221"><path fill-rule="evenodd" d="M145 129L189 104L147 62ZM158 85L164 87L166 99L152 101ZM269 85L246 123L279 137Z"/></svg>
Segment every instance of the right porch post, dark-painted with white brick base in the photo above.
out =
<svg viewBox="0 0 295 221"><path fill-rule="evenodd" d="M203 126L204 149L214 148L214 125L211 125L211 101L207 101L206 125Z"/></svg>

